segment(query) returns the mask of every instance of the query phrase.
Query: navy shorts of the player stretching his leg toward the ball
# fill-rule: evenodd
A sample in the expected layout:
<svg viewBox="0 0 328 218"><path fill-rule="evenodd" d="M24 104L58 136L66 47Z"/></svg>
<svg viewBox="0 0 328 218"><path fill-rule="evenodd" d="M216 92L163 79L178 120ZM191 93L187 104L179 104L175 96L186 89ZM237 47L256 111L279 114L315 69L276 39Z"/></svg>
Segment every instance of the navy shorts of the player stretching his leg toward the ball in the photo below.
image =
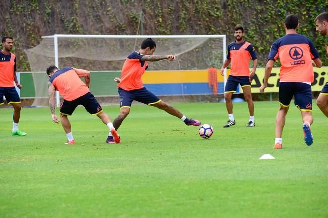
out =
<svg viewBox="0 0 328 218"><path fill-rule="evenodd" d="M118 88L118 94L120 95L120 107L131 107L132 101L138 101L147 105L152 105L160 102L161 100L154 94L152 94L148 89L136 89L131 91L126 91L124 89Z"/></svg>

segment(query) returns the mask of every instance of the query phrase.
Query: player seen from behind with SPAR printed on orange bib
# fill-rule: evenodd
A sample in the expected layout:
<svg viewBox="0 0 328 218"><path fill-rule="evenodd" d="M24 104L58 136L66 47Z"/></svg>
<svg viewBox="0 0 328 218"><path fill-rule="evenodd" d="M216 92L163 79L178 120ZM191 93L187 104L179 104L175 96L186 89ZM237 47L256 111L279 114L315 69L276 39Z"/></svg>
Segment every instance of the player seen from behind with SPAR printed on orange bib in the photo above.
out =
<svg viewBox="0 0 328 218"><path fill-rule="evenodd" d="M295 105L301 111L303 119L304 141L308 146L313 143L310 129L313 123L311 83L314 80L314 72L312 60L318 67L322 66L322 62L313 42L296 32L298 27L298 17L293 14L287 15L284 22L286 35L272 44L265 67L264 82L260 87L260 92L264 92L268 86L273 63L279 57L281 63L279 74L280 108L276 116L275 149L282 148L282 132L293 96Z"/></svg>

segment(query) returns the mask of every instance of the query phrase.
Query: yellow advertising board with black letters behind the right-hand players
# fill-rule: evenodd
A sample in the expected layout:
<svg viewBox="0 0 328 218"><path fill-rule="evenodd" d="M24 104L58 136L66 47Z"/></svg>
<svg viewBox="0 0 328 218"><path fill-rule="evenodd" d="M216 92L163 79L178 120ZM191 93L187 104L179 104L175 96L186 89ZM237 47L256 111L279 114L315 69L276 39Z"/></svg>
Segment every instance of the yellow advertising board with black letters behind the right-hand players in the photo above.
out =
<svg viewBox="0 0 328 218"><path fill-rule="evenodd" d="M271 75L268 80L268 87L265 92L279 91L279 67L272 68ZM314 67L314 82L312 83L312 91L321 91L323 86L328 82L328 67ZM252 93L259 93L259 88L263 84L264 68L257 68L251 82Z"/></svg>

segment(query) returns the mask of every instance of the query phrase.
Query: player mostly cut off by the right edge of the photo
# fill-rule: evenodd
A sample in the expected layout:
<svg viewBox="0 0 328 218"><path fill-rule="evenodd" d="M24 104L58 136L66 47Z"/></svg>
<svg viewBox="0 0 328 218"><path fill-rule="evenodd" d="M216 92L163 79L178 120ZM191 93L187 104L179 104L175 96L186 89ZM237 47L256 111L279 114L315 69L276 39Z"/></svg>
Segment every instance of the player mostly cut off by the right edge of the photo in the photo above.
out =
<svg viewBox="0 0 328 218"><path fill-rule="evenodd" d="M319 14L315 20L316 31L322 36L328 36L328 12ZM328 54L328 45L326 46L326 52ZM321 93L316 100L316 104L320 108L326 117L328 117L328 82L324 85Z"/></svg>

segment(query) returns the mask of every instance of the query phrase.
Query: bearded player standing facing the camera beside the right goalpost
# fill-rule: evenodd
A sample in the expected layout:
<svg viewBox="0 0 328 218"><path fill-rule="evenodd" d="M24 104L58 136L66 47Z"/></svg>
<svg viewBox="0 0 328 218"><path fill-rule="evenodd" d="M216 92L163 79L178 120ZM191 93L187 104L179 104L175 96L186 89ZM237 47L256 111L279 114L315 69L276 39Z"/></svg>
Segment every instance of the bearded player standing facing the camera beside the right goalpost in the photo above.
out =
<svg viewBox="0 0 328 218"><path fill-rule="evenodd" d="M224 128L233 126L236 124L234 120L233 111L232 111L232 94L236 92L238 85L241 85L243 90L243 95L247 101L250 120L247 124L247 127L254 127L254 103L252 100L251 94L251 79L255 74L256 67L258 65L258 60L256 57L256 52L253 45L249 42L246 42L244 37L244 29L241 26L234 28L234 37L235 42L232 42L228 45L228 55L227 59L224 61L221 68L221 75L224 75L224 69L229 66L231 63L230 75L225 85L224 90L224 99L225 106L229 114L229 120ZM249 70L250 59L253 60L253 68Z"/></svg>

